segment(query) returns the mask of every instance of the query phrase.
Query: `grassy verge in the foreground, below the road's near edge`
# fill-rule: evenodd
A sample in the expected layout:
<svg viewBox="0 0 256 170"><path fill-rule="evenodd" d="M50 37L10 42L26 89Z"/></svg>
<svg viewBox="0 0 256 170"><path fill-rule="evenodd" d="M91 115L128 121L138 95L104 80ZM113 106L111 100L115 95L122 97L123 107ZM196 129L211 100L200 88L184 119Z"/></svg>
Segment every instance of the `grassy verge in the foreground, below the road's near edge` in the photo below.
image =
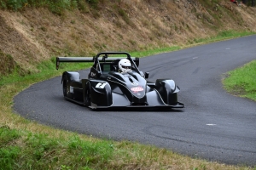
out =
<svg viewBox="0 0 256 170"><path fill-rule="evenodd" d="M0 169L253 169L179 156L127 141L84 139L79 134L31 133L0 127Z"/></svg>

